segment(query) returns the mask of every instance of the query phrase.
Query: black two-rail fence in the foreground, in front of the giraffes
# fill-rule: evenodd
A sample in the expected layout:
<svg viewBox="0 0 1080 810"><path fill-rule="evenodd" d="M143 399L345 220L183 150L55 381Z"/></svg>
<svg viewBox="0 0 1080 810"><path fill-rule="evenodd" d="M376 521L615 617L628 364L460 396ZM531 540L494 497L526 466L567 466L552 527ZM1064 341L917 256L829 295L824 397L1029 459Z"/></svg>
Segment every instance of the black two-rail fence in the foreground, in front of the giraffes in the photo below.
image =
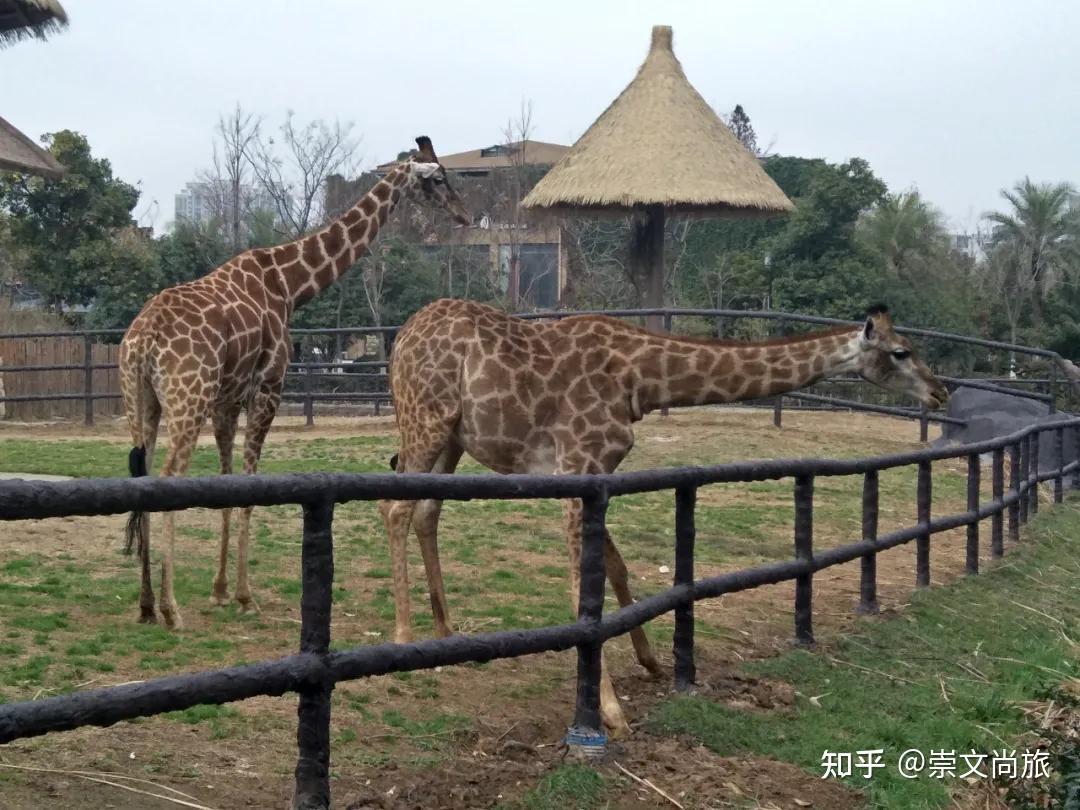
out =
<svg viewBox="0 0 1080 810"><path fill-rule="evenodd" d="M816 571L861 559L858 610L877 610L876 556L887 549L916 543L919 586L930 584L931 537L967 527L967 571L978 572L981 527L990 518L989 548L1000 557L1009 539L1039 509L1040 482L1053 483L1061 501L1067 483L1080 487L1080 460L1065 458L1065 432L1080 454L1080 419L1038 424L993 441L959 447L856 460L747 461L705 468L649 470L610 475L302 474L202 478L90 480L64 483L0 482L0 519L118 514L131 510L166 511L204 507L297 503L303 510L300 600L300 651L275 661L139 684L94 689L39 701L0 705L0 743L81 726L183 710L200 703L226 703L255 696L299 693L294 808L329 807L330 693L335 684L394 672L432 669L468 661L516 658L536 652L578 650L578 692L570 740L602 740L599 717L600 647L650 619L674 611L675 686L694 680L693 604L759 585L795 581L795 638L813 642L813 577ZM1039 446L1050 433L1052 465L1040 472ZM981 455L990 455L991 497L980 492ZM1005 484L1008 456L1008 486ZM968 462L967 510L931 514L932 463ZM878 475L882 470L918 467L916 522L878 534ZM862 537L851 543L813 548L814 482L819 477L863 476ZM697 490L713 484L794 478L794 559L694 579ZM610 498L634 492L674 490L675 572L673 586L605 616L605 515ZM580 498L582 526L581 594L572 624L536 630L454 636L415 644L380 644L329 650L334 580L332 526L336 503L381 498L417 500L474 498ZM595 748L593 748L595 750Z"/></svg>

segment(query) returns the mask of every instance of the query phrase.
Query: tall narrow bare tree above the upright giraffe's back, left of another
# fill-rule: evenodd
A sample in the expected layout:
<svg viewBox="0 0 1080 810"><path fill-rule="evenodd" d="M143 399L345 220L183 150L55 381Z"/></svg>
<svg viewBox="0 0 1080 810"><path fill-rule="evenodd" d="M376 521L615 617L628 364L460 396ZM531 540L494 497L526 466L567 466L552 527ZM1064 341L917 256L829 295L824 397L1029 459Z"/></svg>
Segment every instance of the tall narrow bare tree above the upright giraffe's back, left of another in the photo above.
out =
<svg viewBox="0 0 1080 810"><path fill-rule="evenodd" d="M259 136L260 123L260 118L245 112L239 103L228 118L219 116L214 137L213 167L202 174L202 180L214 200L214 214L229 235L233 254L246 246L245 224L256 213L258 195L253 183L252 151Z"/></svg>

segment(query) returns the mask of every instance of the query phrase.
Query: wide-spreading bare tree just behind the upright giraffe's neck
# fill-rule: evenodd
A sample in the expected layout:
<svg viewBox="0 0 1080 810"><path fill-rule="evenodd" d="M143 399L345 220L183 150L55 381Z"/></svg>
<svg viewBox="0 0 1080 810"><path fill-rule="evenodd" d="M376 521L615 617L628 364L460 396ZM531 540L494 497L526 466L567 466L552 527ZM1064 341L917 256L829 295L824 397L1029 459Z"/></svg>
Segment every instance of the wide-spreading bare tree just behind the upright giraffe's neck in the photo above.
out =
<svg viewBox="0 0 1080 810"><path fill-rule="evenodd" d="M320 120L298 127L293 114L285 117L280 144L258 134L248 157L256 178L274 201L281 234L299 239L322 225L326 179L351 173L359 140L351 136L351 123L329 125Z"/></svg>

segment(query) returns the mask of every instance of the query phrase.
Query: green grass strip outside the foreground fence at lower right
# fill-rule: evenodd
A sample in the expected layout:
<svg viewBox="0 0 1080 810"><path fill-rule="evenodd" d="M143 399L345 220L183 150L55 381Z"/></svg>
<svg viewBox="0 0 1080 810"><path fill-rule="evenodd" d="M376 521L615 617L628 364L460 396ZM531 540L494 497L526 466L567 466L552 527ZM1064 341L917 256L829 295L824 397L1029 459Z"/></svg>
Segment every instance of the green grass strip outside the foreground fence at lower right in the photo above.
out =
<svg viewBox="0 0 1080 810"><path fill-rule="evenodd" d="M956 780L903 779L896 757L907 748L990 753L1002 740L1023 747L1017 704L1059 700L1058 685L1080 675L1066 640L1080 637L1078 530L1076 501L1043 512L1029 529L1036 542L984 576L916 593L901 617L867 622L835 648L744 666L792 684L802 696L792 711L747 713L678 697L658 705L649 725L721 755L773 757L815 775L826 750L885 748L890 768L868 783L849 780L873 807L947 807Z"/></svg>

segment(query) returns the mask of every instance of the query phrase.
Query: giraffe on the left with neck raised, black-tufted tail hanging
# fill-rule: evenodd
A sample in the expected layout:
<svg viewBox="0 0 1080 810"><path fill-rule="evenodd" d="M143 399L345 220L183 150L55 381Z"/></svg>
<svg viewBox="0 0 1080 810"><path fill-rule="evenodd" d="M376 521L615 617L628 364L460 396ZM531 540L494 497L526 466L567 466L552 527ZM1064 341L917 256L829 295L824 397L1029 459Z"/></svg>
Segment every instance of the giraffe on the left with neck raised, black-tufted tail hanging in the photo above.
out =
<svg viewBox="0 0 1080 810"><path fill-rule="evenodd" d="M130 472L147 475L158 426L164 417L170 447L161 475L184 475L208 416L220 456L221 473L232 472L233 440L241 410L247 413L244 472L258 467L262 443L281 401L291 341L293 311L328 287L364 254L390 212L405 197L441 207L462 225L472 217L450 188L431 139L416 139L419 150L392 168L353 207L322 230L288 244L242 253L197 281L151 298L120 345L120 381L134 448ZM247 579L252 508L241 512L237 543L234 597L242 609L258 607ZM226 564L231 510L221 511L221 540L212 600L228 603ZM154 622L150 583L148 516L127 523L126 553L137 542L141 565L139 621ZM173 593L175 526L163 517L161 612L172 630L183 629Z"/></svg>

